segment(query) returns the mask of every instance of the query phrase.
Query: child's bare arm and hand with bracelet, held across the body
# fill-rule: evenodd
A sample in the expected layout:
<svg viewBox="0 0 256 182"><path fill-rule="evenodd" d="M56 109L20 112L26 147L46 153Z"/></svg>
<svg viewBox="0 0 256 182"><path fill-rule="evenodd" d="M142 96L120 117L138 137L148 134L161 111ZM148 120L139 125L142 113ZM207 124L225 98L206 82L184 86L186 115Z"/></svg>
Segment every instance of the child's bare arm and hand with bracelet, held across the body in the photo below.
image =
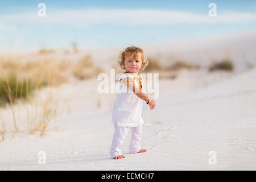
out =
<svg viewBox="0 0 256 182"><path fill-rule="evenodd" d="M147 96L146 93L143 93L141 88L135 85L134 80L130 78L121 79L120 81L123 82L129 89L133 90L133 92L138 96L139 98L143 99L143 101L148 102L149 96ZM144 97L144 98L143 98ZM151 100L150 103L148 103L150 106L150 109L154 109L155 107L155 101Z"/></svg>

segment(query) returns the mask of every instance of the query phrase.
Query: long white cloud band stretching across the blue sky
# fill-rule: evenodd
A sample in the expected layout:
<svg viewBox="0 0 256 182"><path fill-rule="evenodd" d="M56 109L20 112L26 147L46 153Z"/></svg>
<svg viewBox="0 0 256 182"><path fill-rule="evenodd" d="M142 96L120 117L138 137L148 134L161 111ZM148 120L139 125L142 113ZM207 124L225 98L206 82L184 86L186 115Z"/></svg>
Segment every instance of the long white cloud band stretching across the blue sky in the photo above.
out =
<svg viewBox="0 0 256 182"><path fill-rule="evenodd" d="M151 9L80 9L47 11L46 17L39 17L37 12L0 15L2 23L60 23L79 24L127 24L167 25L175 23L241 23L256 20L254 13L227 12L209 17L187 11L151 10Z"/></svg>

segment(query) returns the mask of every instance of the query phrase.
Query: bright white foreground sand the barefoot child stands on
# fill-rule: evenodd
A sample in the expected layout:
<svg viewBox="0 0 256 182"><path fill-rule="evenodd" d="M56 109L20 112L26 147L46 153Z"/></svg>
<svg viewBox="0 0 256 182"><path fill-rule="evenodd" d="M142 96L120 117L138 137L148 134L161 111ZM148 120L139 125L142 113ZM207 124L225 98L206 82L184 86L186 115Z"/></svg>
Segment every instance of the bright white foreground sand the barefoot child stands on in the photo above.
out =
<svg viewBox="0 0 256 182"><path fill-rule="evenodd" d="M147 152L128 153L129 133L123 143L126 159L110 159L114 127L111 108L106 108L112 107L115 96L101 96L105 102L96 109L96 84L88 80L61 86L58 131L43 138L9 134L0 142L0 169L255 170L256 69L232 78L222 76L223 81L208 77L196 82L195 77L190 84L185 74L176 81L160 81L154 110L144 105L141 144ZM39 151L46 152L45 165L38 164ZM216 165L208 163L209 151L216 151Z"/></svg>

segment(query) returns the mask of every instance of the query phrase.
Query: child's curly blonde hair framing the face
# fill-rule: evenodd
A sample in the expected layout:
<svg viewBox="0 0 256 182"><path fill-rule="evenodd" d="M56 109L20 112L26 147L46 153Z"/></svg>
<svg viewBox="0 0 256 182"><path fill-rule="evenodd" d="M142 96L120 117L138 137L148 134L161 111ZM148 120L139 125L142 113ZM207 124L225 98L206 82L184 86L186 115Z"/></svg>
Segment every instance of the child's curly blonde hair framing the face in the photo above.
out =
<svg viewBox="0 0 256 182"><path fill-rule="evenodd" d="M144 68L146 67L146 65L148 64L148 60L144 59L144 52L142 48L139 47L135 47L135 46L130 46L127 47L125 49L125 51L121 51L120 55L119 55L119 61L118 64L121 68L125 69L125 57L127 55L131 55L133 53L141 53L141 60L142 60L142 64L141 64L141 69L140 70L144 70Z"/></svg>

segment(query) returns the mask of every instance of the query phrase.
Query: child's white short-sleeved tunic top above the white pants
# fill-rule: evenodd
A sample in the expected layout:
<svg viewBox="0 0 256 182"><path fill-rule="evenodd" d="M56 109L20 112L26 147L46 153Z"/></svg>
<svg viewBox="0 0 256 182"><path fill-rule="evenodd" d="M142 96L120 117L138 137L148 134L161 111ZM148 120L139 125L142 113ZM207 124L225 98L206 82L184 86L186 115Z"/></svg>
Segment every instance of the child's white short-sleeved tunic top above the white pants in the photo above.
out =
<svg viewBox="0 0 256 182"><path fill-rule="evenodd" d="M118 126L121 127L136 127L144 123L141 117L143 100L120 81L123 78L127 79L127 77L133 79L135 86L139 87L138 82L130 73L123 73L119 77L118 93L113 105L112 123L118 122Z"/></svg>

